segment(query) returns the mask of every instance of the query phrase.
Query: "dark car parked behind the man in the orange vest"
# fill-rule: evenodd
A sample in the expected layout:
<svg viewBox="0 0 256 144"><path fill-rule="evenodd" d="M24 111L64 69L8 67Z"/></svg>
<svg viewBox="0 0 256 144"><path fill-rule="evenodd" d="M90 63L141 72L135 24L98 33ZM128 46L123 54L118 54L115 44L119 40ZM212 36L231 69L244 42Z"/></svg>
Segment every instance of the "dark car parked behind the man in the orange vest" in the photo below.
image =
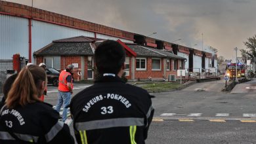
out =
<svg viewBox="0 0 256 144"><path fill-rule="evenodd" d="M60 72L53 67L46 67L47 81L48 84L53 84L53 86L58 86L58 77Z"/></svg>

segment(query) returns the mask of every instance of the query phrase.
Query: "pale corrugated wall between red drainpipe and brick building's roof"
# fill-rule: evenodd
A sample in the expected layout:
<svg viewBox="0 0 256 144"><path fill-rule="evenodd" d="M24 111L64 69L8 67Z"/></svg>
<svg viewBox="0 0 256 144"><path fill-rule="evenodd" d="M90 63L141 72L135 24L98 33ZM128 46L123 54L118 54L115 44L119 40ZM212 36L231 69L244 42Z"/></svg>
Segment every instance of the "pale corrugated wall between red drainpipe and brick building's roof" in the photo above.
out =
<svg viewBox="0 0 256 144"><path fill-rule="evenodd" d="M32 21L32 52L49 45L53 40L65 39L69 37L77 37L83 35L85 37L95 37L90 31L83 31L71 27L58 26L47 22Z"/></svg>

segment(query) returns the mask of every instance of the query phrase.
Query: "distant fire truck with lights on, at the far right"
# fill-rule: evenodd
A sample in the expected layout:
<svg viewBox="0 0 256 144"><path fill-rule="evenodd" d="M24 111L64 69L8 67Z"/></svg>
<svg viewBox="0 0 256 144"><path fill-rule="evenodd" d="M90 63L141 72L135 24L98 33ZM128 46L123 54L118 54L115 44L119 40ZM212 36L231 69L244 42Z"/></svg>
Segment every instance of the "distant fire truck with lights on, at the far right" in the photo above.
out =
<svg viewBox="0 0 256 144"><path fill-rule="evenodd" d="M245 78L245 65L242 63L238 63L237 69L238 69L237 71L238 79ZM226 65L226 75L230 79L236 79L236 63L228 63Z"/></svg>

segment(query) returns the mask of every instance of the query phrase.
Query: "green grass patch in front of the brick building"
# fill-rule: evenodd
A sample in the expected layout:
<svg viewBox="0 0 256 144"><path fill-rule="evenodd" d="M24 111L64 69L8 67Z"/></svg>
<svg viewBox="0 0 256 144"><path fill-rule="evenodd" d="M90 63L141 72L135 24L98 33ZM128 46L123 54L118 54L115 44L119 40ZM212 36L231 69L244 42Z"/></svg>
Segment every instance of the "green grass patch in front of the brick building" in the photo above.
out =
<svg viewBox="0 0 256 144"><path fill-rule="evenodd" d="M152 84L144 84L141 87L148 92L165 92L168 90L173 90L179 88L181 84L179 83L170 83L170 82L156 82Z"/></svg>

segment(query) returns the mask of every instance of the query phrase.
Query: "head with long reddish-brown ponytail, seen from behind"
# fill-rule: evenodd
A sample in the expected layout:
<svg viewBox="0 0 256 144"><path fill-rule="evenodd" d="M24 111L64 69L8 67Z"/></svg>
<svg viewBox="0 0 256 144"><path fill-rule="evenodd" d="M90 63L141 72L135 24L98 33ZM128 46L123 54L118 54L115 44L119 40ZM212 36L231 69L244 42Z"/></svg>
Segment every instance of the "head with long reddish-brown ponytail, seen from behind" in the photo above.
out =
<svg viewBox="0 0 256 144"><path fill-rule="evenodd" d="M7 95L5 103L8 108L17 105L27 105L35 101L41 101L39 97L45 89L46 73L37 65L28 65L24 67L18 77L16 77L12 88Z"/></svg>

